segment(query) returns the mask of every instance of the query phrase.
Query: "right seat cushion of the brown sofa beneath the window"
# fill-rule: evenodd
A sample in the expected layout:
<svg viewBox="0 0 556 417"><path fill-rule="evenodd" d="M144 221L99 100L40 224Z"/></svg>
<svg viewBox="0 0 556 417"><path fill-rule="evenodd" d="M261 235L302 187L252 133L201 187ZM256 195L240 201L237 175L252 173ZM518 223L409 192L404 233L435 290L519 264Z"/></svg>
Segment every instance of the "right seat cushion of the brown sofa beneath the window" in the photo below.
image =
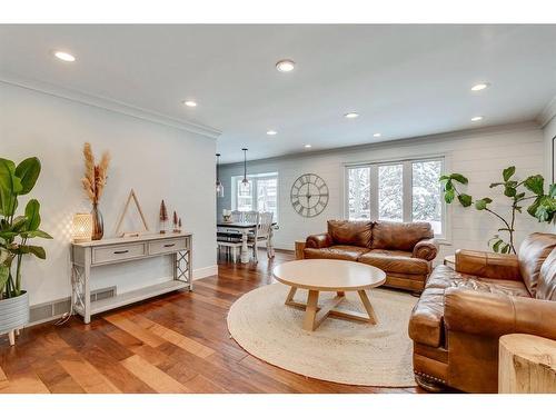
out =
<svg viewBox="0 0 556 417"><path fill-rule="evenodd" d="M371 265L385 272L408 275L427 275L430 272L430 262L420 258L411 258L411 252L400 252L398 250L370 250L361 255L359 262Z"/></svg>

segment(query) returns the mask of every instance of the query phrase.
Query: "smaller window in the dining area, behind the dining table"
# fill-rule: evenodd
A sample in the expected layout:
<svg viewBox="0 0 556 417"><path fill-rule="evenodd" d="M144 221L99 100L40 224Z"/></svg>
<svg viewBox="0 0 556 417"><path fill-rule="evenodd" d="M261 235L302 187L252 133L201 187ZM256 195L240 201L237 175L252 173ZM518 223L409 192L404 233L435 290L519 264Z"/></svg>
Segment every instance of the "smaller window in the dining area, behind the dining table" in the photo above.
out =
<svg viewBox="0 0 556 417"><path fill-rule="evenodd" d="M242 176L231 177L231 207L239 211L271 211L274 221L278 221L278 172L247 176L250 185L248 192L239 186L242 179Z"/></svg>

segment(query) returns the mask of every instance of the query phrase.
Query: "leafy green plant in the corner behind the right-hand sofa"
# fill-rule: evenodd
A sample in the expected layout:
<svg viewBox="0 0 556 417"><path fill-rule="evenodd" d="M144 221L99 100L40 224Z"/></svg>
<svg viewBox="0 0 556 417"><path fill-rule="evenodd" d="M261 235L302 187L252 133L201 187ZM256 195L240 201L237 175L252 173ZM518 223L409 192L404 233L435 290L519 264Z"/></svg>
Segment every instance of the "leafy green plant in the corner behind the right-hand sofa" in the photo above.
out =
<svg viewBox="0 0 556 417"><path fill-rule="evenodd" d="M448 173L439 178L443 185L444 200L448 205L457 197L463 207L475 206L476 210L487 211L503 224L498 231L506 235L506 238L502 238L497 234L488 240L488 246L495 252L516 254L514 242L516 214L522 214L524 206L529 205L526 209L527 212L540 222L552 222L556 214L555 183L552 183L548 187L548 193L545 193L545 179L543 176L535 175L520 181L514 177L515 173L516 167L508 167L502 171L500 182L490 183L490 188L503 188L504 196L510 199L512 210L506 217L493 209L492 203L494 200L492 198L484 197L474 200L471 196L460 192L458 187L467 186L469 182L461 173Z"/></svg>

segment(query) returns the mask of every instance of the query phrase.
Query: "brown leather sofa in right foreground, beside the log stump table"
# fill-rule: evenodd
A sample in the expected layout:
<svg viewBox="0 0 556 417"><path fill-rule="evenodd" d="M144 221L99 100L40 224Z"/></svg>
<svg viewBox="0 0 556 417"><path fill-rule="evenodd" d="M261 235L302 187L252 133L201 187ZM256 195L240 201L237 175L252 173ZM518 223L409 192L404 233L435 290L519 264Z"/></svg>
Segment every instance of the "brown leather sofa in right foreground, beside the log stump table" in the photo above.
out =
<svg viewBox="0 0 556 417"><path fill-rule="evenodd" d="M498 339L556 339L556 235L533 234L519 255L458 250L438 266L409 321L414 371L428 390L497 393Z"/></svg>

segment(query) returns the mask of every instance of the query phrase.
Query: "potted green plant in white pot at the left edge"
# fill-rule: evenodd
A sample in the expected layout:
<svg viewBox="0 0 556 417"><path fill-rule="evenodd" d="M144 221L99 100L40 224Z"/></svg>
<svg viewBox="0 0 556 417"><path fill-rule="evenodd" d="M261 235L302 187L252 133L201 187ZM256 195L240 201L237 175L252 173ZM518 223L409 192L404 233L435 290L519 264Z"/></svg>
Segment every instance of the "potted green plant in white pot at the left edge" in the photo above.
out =
<svg viewBox="0 0 556 417"><path fill-rule="evenodd" d="M40 230L40 203L30 199L24 212L16 215L18 197L31 192L40 173L38 158L28 158L16 166L0 158L0 334L10 334L29 322L29 295L21 289L21 267L26 256L46 259L40 246L31 245L33 238L52 239Z"/></svg>

